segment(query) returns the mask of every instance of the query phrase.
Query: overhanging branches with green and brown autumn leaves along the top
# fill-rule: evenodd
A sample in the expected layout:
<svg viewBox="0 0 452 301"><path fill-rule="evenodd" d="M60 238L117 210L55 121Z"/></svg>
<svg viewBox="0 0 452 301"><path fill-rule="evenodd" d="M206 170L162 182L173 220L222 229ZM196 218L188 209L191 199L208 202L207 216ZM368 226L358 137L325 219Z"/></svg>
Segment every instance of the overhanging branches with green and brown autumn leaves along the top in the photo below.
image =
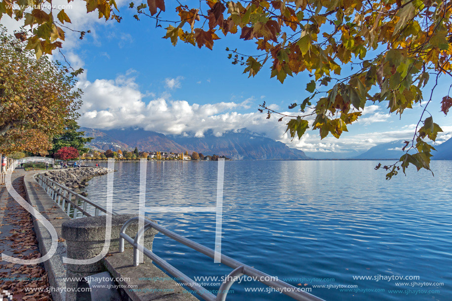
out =
<svg viewBox="0 0 452 301"><path fill-rule="evenodd" d="M63 24L70 17L61 10L52 13L34 9L7 8L2 0L0 14L25 19L33 30L18 33L28 39L28 49L51 53L64 40ZM51 0L49 0L51 3ZM20 2L12 0L12 3ZM99 18L115 19L114 0L86 0L87 12L98 10ZM287 132L301 138L306 130L318 130L320 137L339 138L347 126L358 120L366 102L387 104L389 112L402 114L420 103L423 111L412 140L405 142L407 152L400 161L384 166L387 178L400 168L413 164L430 169L432 141L442 132L427 111L441 76L452 76L452 3L446 0L252 0L193 1L190 6L167 9L164 0L130 3L135 18L155 21L166 29L165 38L199 48L213 49L214 41L227 34L255 44L256 52L230 52L232 64L244 67L255 76L267 65L271 77L281 83L287 76L307 72L309 96L289 105L294 114L281 114L264 102L260 111L268 118L287 119ZM6 7L6 8L5 8ZM177 15L168 11L175 8ZM117 8L116 8L117 9ZM172 19L175 17L174 19ZM85 32L80 33L81 36ZM424 98L422 89L431 82ZM448 89L438 109L445 114L452 106ZM446 93L447 91L447 93ZM439 101L438 101L439 102ZM414 154L408 151L415 150ZM381 165L377 166L380 168Z"/></svg>

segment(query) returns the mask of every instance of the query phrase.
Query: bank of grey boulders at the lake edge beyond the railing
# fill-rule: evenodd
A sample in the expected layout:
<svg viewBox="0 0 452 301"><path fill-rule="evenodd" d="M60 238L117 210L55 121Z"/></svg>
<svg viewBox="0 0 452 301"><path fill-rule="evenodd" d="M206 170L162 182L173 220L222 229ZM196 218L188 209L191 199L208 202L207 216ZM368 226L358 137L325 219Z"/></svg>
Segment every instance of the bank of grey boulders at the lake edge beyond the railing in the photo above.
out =
<svg viewBox="0 0 452 301"><path fill-rule="evenodd" d="M107 173L108 168L106 167L81 167L47 171L44 175L55 182L65 185L70 190L80 192L80 189L88 185L87 182L91 178ZM86 196L85 193L81 194Z"/></svg>

